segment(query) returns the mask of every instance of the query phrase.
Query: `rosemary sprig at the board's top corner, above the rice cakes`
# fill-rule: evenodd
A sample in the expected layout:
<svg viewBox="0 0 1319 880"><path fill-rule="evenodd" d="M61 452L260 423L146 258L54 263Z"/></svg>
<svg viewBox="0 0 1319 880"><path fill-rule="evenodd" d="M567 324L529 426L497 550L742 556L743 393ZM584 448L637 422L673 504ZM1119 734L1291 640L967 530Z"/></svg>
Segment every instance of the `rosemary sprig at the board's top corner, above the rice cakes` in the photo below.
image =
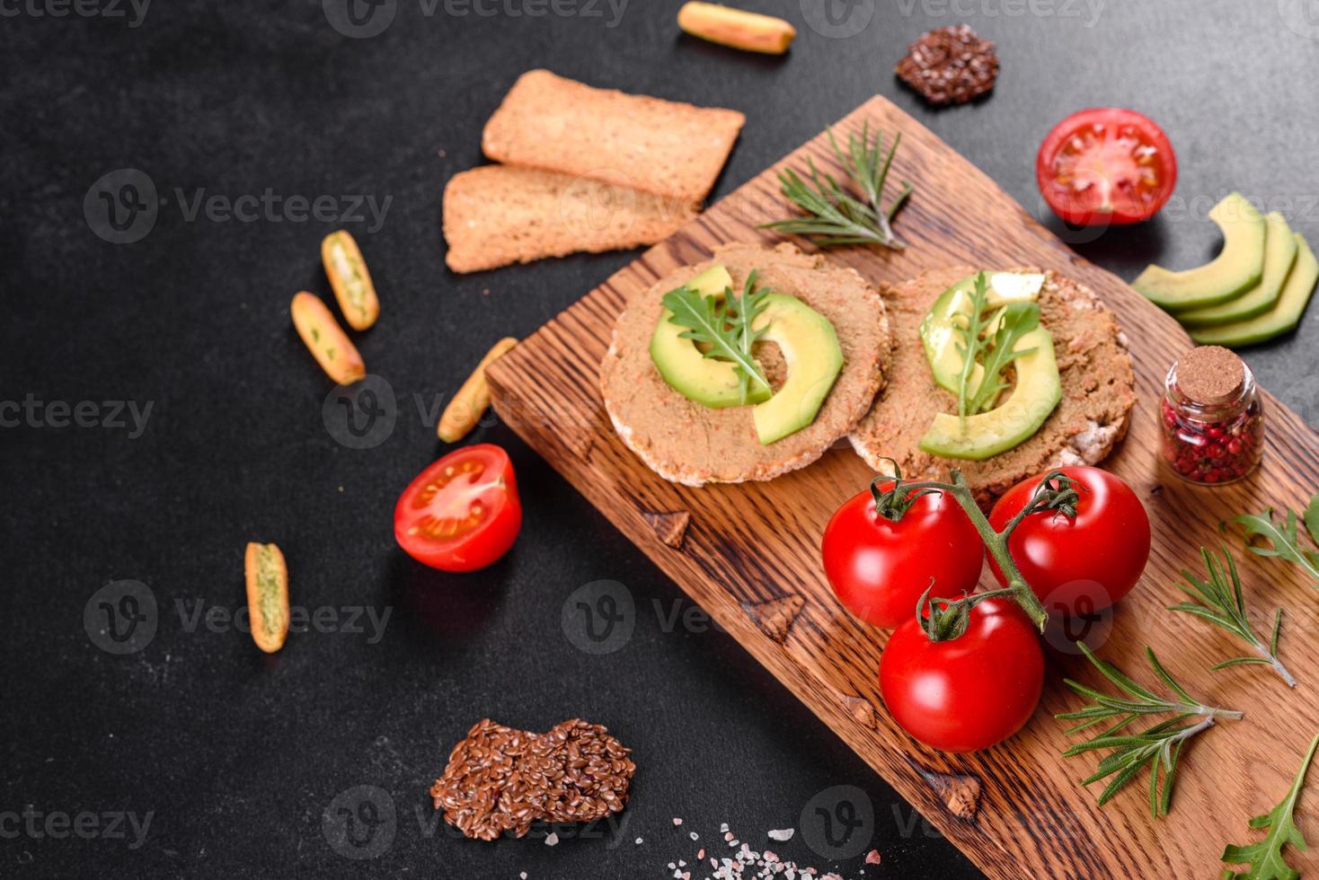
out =
<svg viewBox="0 0 1319 880"><path fill-rule="evenodd" d="M783 169L778 173L778 182L789 202L805 211L806 217L787 217L761 224L761 229L777 229L787 234L807 236L820 246L832 245L881 245L893 250L902 250L904 245L893 234L893 217L911 195L911 184L902 180L902 190L897 198L884 207L884 182L889 175L889 166L893 165L893 154L897 153L902 133L893 137L893 145L888 154L884 153L884 132L874 129L874 140L871 140L871 123L861 126L861 136L847 136L847 151L838 145L834 129L824 129L828 134L830 146L834 155L843 166L852 184L861 192L863 199L844 190L834 175L822 173L810 158L806 165L810 169L810 179L802 179L793 169Z"/></svg>

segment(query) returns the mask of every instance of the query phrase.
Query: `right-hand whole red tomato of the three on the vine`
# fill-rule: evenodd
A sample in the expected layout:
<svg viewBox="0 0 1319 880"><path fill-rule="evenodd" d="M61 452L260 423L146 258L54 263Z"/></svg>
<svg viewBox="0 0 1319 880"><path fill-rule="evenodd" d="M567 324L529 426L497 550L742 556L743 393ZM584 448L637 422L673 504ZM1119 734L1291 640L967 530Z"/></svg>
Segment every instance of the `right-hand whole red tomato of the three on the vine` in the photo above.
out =
<svg viewBox="0 0 1319 880"><path fill-rule="evenodd" d="M1050 511L1021 520L1008 539L1012 561L1045 610L1068 615L1103 611L1136 586L1150 557L1150 518L1132 487L1099 468L1060 468L1076 481L1076 516ZM1002 531L1026 506L1043 476L1008 490L989 512ZM1002 572L989 560L995 577Z"/></svg>

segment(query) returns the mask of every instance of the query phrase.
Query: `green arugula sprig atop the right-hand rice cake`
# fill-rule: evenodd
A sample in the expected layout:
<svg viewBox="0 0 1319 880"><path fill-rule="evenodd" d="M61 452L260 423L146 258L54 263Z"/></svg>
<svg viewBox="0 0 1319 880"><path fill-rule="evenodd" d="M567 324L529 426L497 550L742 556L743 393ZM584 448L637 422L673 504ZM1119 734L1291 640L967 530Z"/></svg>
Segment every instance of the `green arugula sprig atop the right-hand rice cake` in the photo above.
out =
<svg viewBox="0 0 1319 880"><path fill-rule="evenodd" d="M998 394L1009 387L1002 379L1008 365L1033 348L1017 350L1017 341L1039 327L1039 306L1037 303L1008 303L992 315L985 315L989 306L989 279L985 273L976 275L975 286L968 294L971 314L954 319L954 328L962 337L958 353L962 354L962 374L958 377L958 420L966 431L968 415L991 408ZM975 389L971 377L976 364L984 361L984 378Z"/></svg>

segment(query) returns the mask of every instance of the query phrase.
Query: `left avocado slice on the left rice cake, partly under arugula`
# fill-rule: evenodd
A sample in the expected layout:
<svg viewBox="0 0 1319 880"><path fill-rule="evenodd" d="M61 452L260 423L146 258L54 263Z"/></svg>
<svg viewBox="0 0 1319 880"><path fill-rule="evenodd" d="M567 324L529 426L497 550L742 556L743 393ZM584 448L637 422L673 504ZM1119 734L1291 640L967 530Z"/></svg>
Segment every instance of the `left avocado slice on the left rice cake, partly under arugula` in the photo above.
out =
<svg viewBox="0 0 1319 880"><path fill-rule="evenodd" d="M702 296L723 296L733 286L728 270L716 263L687 282ZM752 386L743 399L741 383L736 368L728 361L716 361L702 354L696 344L683 339L686 327L674 324L673 312L667 308L660 316L654 333L650 335L650 360L660 375L674 391L702 406L721 410L747 403L761 403L770 398L770 391Z"/></svg>

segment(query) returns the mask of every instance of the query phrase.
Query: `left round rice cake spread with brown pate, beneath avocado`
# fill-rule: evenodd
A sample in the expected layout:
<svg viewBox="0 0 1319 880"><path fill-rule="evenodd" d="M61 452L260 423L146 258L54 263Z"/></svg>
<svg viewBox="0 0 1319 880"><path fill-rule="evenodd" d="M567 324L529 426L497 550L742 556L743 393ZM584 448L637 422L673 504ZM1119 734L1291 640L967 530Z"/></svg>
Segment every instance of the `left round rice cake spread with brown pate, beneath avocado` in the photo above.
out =
<svg viewBox="0 0 1319 880"><path fill-rule="evenodd" d="M662 296L715 263L739 289L751 271L757 289L797 296L834 324L843 369L807 427L769 445L756 435L752 407L710 408L669 387L650 360L650 336ZM757 361L776 386L783 375L773 344L758 344ZM884 300L855 269L789 244L728 245L712 260L677 269L632 296L613 328L600 365L604 406L623 441L665 480L689 486L773 480L819 458L865 415L888 371L889 325Z"/></svg>

